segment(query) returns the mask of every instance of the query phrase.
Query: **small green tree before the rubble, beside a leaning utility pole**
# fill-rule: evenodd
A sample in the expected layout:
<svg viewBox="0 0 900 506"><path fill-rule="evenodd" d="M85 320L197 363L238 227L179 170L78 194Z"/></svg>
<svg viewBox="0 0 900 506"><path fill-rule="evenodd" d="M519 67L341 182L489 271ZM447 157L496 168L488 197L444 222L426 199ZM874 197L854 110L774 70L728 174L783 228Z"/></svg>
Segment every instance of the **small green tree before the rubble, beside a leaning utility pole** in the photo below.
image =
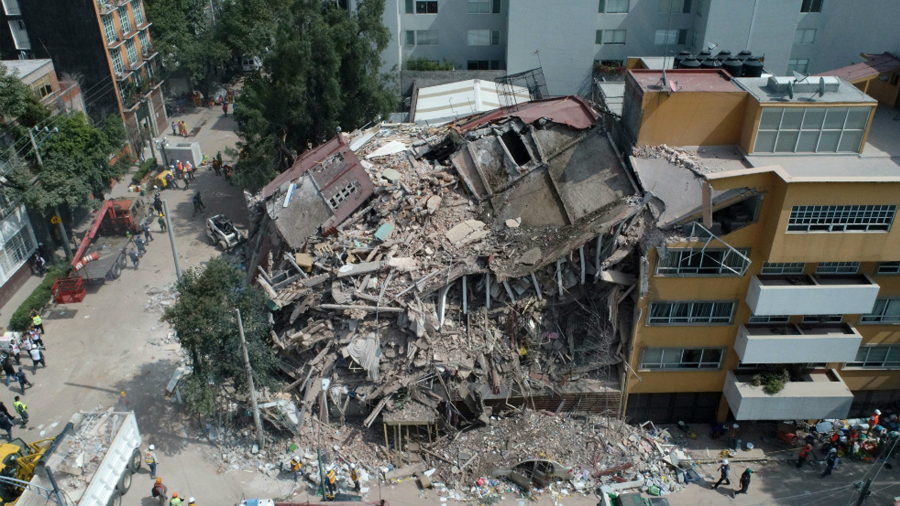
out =
<svg viewBox="0 0 900 506"><path fill-rule="evenodd" d="M214 399L226 384L247 392L235 308L241 310L256 387L276 383L275 355L266 344L271 329L266 297L255 287L242 287L243 279L241 271L213 258L184 273L176 285L178 299L163 315L191 356L193 374L185 396L195 414L212 415Z"/></svg>

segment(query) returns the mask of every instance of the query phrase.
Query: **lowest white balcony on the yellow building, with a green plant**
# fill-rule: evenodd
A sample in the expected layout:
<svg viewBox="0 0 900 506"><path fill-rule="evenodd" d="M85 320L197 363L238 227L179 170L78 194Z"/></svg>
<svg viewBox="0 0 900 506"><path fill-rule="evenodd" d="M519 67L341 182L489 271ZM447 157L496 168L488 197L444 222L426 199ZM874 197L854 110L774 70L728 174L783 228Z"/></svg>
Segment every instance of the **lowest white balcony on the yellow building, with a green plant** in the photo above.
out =
<svg viewBox="0 0 900 506"><path fill-rule="evenodd" d="M737 420L847 418L853 393L834 369L816 370L769 395L751 383L752 374L728 371L725 400Z"/></svg>

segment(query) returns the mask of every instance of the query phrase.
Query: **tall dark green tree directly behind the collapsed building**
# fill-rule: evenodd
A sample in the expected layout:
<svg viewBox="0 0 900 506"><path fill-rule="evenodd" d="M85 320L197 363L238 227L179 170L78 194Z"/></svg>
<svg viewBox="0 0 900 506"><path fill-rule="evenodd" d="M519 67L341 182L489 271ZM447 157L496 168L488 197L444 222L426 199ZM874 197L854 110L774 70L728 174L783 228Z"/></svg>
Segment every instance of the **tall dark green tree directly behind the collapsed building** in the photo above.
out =
<svg viewBox="0 0 900 506"><path fill-rule="evenodd" d="M384 0L360 0L349 14L333 2L292 0L278 23L265 71L247 79L235 115L242 159L235 179L256 189L297 153L386 117L396 97L380 74L390 32Z"/></svg>

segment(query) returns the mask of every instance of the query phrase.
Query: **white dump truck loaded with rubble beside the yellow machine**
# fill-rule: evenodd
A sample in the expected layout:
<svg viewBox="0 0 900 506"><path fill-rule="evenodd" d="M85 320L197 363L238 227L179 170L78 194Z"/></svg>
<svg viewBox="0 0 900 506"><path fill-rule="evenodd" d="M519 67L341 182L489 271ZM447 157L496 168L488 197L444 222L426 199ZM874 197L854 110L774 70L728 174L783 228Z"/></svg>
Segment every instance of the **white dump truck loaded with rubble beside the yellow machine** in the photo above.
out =
<svg viewBox="0 0 900 506"><path fill-rule="evenodd" d="M134 412L75 414L38 461L17 506L121 506L141 468ZM132 501L135 502L135 501Z"/></svg>

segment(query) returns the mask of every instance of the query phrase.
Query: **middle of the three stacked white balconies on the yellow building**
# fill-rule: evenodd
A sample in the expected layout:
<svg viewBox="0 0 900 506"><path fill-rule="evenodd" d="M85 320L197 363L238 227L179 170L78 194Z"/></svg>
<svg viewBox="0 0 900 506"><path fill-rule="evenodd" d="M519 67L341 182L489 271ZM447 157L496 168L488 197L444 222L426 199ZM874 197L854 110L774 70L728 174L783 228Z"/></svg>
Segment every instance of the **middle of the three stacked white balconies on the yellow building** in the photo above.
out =
<svg viewBox="0 0 900 506"><path fill-rule="evenodd" d="M861 342L849 323L748 323L738 329L734 350L745 364L849 362Z"/></svg>

